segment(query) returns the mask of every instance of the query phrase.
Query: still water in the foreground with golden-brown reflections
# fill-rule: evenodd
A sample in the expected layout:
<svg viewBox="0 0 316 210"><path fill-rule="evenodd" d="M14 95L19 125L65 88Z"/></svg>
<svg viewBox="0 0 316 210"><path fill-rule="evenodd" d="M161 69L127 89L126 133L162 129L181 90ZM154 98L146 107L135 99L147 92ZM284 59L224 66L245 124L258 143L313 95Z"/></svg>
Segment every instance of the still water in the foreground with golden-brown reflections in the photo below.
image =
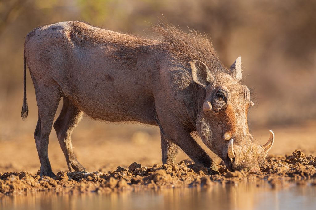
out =
<svg viewBox="0 0 316 210"><path fill-rule="evenodd" d="M37 192L3 196L0 209L315 209L316 187L295 186L270 189L265 182L238 185L216 184L207 189L184 188L158 191L120 192L108 195L87 193L57 195Z"/></svg>

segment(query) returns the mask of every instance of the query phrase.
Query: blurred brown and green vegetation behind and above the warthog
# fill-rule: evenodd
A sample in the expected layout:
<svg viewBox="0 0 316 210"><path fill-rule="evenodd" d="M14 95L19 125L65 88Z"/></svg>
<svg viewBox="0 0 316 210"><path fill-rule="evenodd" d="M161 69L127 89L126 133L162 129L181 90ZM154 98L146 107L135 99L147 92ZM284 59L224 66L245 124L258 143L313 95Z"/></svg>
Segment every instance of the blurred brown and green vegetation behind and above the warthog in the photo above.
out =
<svg viewBox="0 0 316 210"><path fill-rule="evenodd" d="M315 119L315 10L316 1L295 0L0 0L0 112L12 102L20 112L24 37L33 28L84 20L151 37L146 29L166 18L210 34L223 64L242 56L243 81L255 93L252 124Z"/></svg>

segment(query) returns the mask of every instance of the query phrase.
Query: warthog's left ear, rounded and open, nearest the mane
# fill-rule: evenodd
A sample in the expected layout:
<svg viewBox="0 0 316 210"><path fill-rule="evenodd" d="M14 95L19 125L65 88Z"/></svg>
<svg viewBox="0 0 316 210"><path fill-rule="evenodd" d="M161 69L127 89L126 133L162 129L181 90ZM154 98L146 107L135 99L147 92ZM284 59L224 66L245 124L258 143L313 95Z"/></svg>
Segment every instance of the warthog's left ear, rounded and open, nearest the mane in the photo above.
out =
<svg viewBox="0 0 316 210"><path fill-rule="evenodd" d="M214 77L207 66L199 60L190 60L192 78L197 84L206 87L209 83L214 82Z"/></svg>

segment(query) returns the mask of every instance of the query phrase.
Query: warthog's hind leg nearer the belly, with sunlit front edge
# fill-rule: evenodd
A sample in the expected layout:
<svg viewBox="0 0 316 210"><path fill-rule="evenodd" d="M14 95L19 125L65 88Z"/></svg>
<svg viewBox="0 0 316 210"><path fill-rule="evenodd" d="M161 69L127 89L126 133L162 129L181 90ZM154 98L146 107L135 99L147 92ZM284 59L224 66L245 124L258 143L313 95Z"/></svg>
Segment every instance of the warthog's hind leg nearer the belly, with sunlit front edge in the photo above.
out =
<svg viewBox="0 0 316 210"><path fill-rule="evenodd" d="M64 152L69 171L71 171L71 168L75 171L86 171L86 169L78 162L71 145L71 133L79 123L83 112L68 98L63 97L63 99L64 105L54 123L54 129L57 133L60 147Z"/></svg>

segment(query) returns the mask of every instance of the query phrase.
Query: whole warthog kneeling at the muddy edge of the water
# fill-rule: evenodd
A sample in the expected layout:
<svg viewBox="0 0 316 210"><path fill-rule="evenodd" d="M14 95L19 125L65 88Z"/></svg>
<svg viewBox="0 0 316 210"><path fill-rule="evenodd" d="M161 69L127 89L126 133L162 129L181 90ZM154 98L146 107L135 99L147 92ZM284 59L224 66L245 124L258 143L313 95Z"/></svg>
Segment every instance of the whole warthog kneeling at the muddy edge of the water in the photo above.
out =
<svg viewBox="0 0 316 210"><path fill-rule="evenodd" d="M78 21L41 26L24 46L38 106L34 139L40 175L54 177L48 137L54 127L69 170L85 171L77 161L71 133L83 113L110 122L135 121L159 126L162 163L174 164L178 148L194 162L218 173L216 164L192 138L221 157L229 170L259 171L274 134L263 145L252 142L247 124L253 106L240 84L240 57L230 69L219 61L209 39L195 31L154 26L162 41L129 36ZM60 99L64 104L53 124Z"/></svg>

